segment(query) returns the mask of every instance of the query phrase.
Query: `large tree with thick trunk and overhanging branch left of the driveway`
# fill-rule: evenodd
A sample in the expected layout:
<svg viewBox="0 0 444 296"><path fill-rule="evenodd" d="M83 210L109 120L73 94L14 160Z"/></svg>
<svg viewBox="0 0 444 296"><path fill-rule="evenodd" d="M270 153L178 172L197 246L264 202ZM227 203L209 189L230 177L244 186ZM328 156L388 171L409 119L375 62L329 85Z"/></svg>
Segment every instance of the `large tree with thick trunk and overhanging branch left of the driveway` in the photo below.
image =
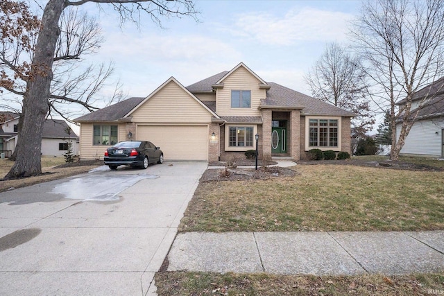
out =
<svg viewBox="0 0 444 296"><path fill-rule="evenodd" d="M160 17L182 17L196 15L191 0L49 0L42 15L41 28L33 52L30 75L26 80L23 99L22 128L17 140L17 159L5 179L40 175L41 138L43 123L49 112L51 81L53 80L54 53L60 35L59 21L63 10L69 6L80 6L87 2L108 3L119 12L122 20L137 21L146 13L160 24Z"/></svg>

